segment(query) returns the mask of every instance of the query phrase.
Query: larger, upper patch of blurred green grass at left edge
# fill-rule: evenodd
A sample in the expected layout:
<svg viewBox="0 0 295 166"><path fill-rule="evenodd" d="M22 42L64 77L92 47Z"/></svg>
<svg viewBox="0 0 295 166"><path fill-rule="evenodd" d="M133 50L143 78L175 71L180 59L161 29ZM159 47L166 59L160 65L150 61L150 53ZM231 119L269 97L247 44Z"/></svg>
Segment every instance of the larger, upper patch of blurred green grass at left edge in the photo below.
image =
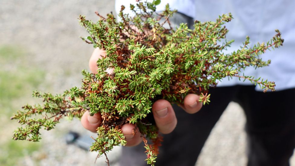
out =
<svg viewBox="0 0 295 166"><path fill-rule="evenodd" d="M30 65L30 56L19 47L0 46L0 113L15 112L15 102L31 96L44 80L45 72Z"/></svg>

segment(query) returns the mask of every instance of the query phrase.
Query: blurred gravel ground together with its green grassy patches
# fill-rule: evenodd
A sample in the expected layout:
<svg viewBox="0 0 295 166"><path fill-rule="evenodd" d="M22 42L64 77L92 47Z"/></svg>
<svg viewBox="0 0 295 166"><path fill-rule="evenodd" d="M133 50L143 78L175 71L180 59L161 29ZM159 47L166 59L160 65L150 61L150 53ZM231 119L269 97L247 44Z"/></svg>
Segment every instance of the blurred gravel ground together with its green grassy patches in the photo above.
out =
<svg viewBox="0 0 295 166"><path fill-rule="evenodd" d="M0 93L0 165L106 165L104 157L94 164L95 153L66 145L64 136L69 131L95 135L83 129L79 120L63 120L57 129L42 132L36 147L12 142L12 131L18 124L9 120L15 110L36 101L30 97L32 90L55 94L81 85L80 73L88 69L93 47L79 38L87 34L77 17L82 14L96 21L95 11L102 15L114 11L114 1L0 1L0 85L2 92L15 93ZM14 84L17 81L19 84ZM246 165L244 124L242 109L230 103L196 165ZM30 151L26 150L32 146ZM112 165L117 166L120 148L108 156ZM295 165L294 156L291 165Z"/></svg>

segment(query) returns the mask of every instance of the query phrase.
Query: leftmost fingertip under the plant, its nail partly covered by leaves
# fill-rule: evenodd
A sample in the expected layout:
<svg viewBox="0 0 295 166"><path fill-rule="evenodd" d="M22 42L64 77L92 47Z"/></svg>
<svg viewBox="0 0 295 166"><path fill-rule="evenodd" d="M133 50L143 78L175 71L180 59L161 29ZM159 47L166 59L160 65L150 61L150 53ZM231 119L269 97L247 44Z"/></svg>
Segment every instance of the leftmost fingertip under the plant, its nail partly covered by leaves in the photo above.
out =
<svg viewBox="0 0 295 166"><path fill-rule="evenodd" d="M90 116L89 112L86 111L81 118L83 127L91 132L96 132L96 129L100 126L101 122L102 118L100 113Z"/></svg>

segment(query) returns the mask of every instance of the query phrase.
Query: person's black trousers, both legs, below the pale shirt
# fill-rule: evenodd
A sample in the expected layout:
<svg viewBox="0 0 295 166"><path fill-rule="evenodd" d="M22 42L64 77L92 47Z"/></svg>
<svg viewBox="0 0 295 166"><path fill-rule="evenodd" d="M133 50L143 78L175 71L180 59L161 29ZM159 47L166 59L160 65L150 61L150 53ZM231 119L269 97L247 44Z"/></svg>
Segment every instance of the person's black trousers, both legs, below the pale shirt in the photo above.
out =
<svg viewBox="0 0 295 166"><path fill-rule="evenodd" d="M288 166L295 147L295 89L257 92L254 86L218 87L196 114L173 106L176 129L164 136L155 165L194 166L212 128L231 101L245 111L248 166ZM239 146L239 145L237 145ZM121 166L146 166L145 149L123 147Z"/></svg>

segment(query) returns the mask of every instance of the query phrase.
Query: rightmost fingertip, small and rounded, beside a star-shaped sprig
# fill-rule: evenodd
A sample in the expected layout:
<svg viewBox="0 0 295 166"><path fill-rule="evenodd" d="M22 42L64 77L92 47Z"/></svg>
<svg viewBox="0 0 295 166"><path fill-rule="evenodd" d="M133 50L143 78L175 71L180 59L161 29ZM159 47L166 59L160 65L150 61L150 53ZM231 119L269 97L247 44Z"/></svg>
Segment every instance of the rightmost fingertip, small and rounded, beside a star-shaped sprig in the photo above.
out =
<svg viewBox="0 0 295 166"><path fill-rule="evenodd" d="M188 94L183 101L184 110L190 114L198 112L202 108L202 105L199 102L199 96L196 94Z"/></svg>

